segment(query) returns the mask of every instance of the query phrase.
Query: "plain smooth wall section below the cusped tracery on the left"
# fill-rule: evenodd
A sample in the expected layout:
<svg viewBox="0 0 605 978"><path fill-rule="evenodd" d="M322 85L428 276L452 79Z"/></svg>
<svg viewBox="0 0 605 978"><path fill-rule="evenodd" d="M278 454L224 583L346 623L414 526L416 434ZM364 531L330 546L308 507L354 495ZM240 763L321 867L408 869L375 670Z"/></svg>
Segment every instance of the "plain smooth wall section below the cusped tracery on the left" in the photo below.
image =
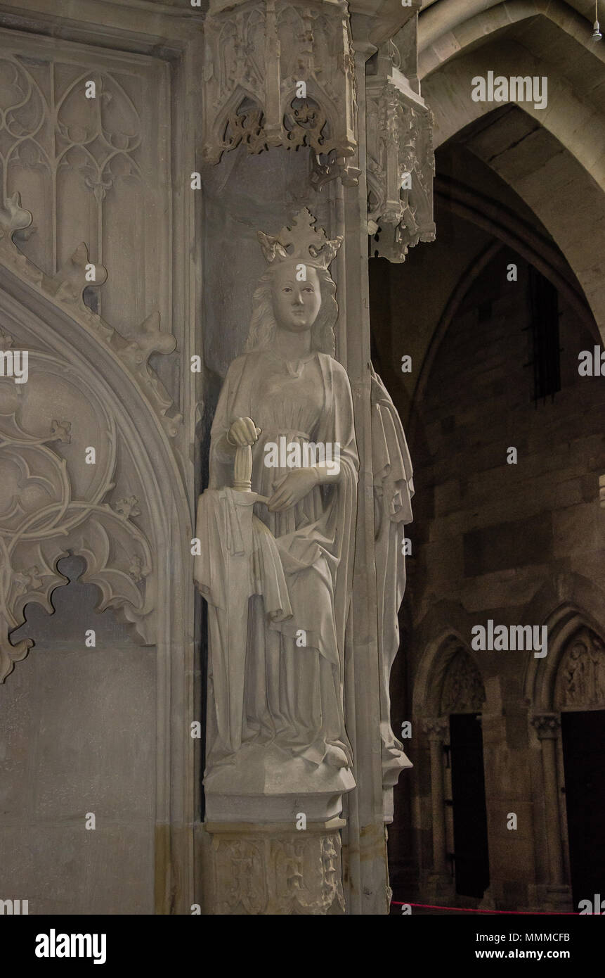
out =
<svg viewBox="0 0 605 978"><path fill-rule="evenodd" d="M55 614L30 604L14 633L36 646L2 688L2 892L29 913L152 913L156 650L95 614L83 568L61 560Z"/></svg>

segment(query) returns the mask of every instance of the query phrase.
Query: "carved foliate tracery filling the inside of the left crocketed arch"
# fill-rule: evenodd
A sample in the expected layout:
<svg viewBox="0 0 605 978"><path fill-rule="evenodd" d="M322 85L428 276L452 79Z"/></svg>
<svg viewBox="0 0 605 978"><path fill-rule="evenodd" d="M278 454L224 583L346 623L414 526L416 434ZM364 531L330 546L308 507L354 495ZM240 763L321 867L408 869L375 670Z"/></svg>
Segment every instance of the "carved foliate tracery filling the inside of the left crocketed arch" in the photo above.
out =
<svg viewBox="0 0 605 978"><path fill-rule="evenodd" d="M47 422L55 401L70 420ZM94 466L85 463L91 444ZM10 633L22 625L28 602L53 613L52 592L65 584L57 563L69 553L84 557L82 581L101 591L96 610L123 610L151 641L151 547L132 520L141 514L139 501L108 502L117 446L102 401L57 357L28 350L27 382L0 378L0 682L32 645L13 643Z"/></svg>

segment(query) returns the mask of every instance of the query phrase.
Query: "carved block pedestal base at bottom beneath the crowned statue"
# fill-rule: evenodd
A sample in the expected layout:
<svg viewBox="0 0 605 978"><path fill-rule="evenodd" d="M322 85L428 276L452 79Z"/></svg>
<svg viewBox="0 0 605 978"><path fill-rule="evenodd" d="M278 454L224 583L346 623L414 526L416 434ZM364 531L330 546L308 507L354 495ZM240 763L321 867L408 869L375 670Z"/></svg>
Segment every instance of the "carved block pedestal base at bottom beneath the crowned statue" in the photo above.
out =
<svg viewBox="0 0 605 978"><path fill-rule="evenodd" d="M344 913L342 819L308 822L206 822L206 913ZM211 881L211 883L209 882Z"/></svg>

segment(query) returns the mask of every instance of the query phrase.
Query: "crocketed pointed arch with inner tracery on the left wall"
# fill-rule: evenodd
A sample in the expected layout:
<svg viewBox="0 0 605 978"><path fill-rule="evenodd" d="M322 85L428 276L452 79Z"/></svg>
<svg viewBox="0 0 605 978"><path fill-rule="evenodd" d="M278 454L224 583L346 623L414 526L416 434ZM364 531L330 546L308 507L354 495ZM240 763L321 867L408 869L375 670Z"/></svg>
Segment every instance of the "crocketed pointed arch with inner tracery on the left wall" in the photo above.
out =
<svg viewBox="0 0 605 978"><path fill-rule="evenodd" d="M61 384L67 403L65 398L68 400L68 392L72 392L73 418L53 420L51 430L44 433L33 426L29 429L18 410L12 448L16 455L20 451L31 455L35 450L47 466L54 467L57 484L65 494L51 501L51 510L65 513L71 507L74 523L82 511L87 511L79 523L82 545L75 547L76 553L88 562L87 579L99 583L105 606L110 604L127 621L136 623L145 644L155 648L154 904L159 913L186 912L194 894L195 768L194 740L190 736L194 637L190 629L183 629L183 622L194 621L194 587L188 559L193 513L185 473L173 447L173 439L178 444L181 437L180 419L148 366L151 351L172 349L174 337L154 331L156 320L150 317L136 339L124 340L84 305L81 294L86 283L77 267L70 266L63 278L49 280L22 255L13 244L12 235L26 223L26 212L18 197L0 208L3 333L8 335L12 348L28 350L30 369L40 379L42 393L50 391L53 384ZM35 397L35 388L31 391ZM42 393L35 407L44 419ZM25 407L27 396L21 397ZM53 403L48 399L46 413ZM28 418L34 417L32 410ZM95 419L100 420L97 434L89 438ZM97 437L97 457L104 466L101 479L93 479L88 485L84 460L76 459L73 452L69 454L69 438L76 425L85 427L85 442ZM65 453L59 451L64 441ZM4 446L7 443L5 439ZM79 443L77 447L81 447ZM31 466L29 459L22 469L26 477ZM42 477L46 475L42 473ZM128 492L124 499L119 498L121 493L113 493L114 488L134 482L140 519L129 509ZM32 517L26 529L31 537L26 543L39 553L41 541L48 540L57 530L53 544L56 556L65 553L65 526L53 524L49 529L48 523L40 525ZM141 548L138 559L133 551L130 565L127 544L121 547L121 556L116 556L118 540L126 538L133 541L133 548L135 541ZM8 641L8 634L24 620L25 603L37 600L52 611L48 596L58 581L52 571L52 548L47 556L48 574L44 567L38 568L44 571L38 576L30 573L33 568L25 560L26 566L16 566L8 575L11 580L8 594L5 589L1 616L6 629L4 674L8 683L8 674L15 662L19 668L19 660L30 645L15 647ZM11 590L15 580L17 587Z"/></svg>

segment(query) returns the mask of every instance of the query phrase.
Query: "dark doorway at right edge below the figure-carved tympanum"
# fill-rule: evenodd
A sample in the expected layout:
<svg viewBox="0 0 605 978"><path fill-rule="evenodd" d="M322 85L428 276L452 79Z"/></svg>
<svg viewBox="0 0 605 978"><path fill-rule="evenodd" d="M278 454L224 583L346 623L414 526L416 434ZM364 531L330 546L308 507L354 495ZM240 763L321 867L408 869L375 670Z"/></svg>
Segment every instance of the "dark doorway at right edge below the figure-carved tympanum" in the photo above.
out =
<svg viewBox="0 0 605 978"><path fill-rule="evenodd" d="M605 896L605 710L562 713L574 909Z"/></svg>

